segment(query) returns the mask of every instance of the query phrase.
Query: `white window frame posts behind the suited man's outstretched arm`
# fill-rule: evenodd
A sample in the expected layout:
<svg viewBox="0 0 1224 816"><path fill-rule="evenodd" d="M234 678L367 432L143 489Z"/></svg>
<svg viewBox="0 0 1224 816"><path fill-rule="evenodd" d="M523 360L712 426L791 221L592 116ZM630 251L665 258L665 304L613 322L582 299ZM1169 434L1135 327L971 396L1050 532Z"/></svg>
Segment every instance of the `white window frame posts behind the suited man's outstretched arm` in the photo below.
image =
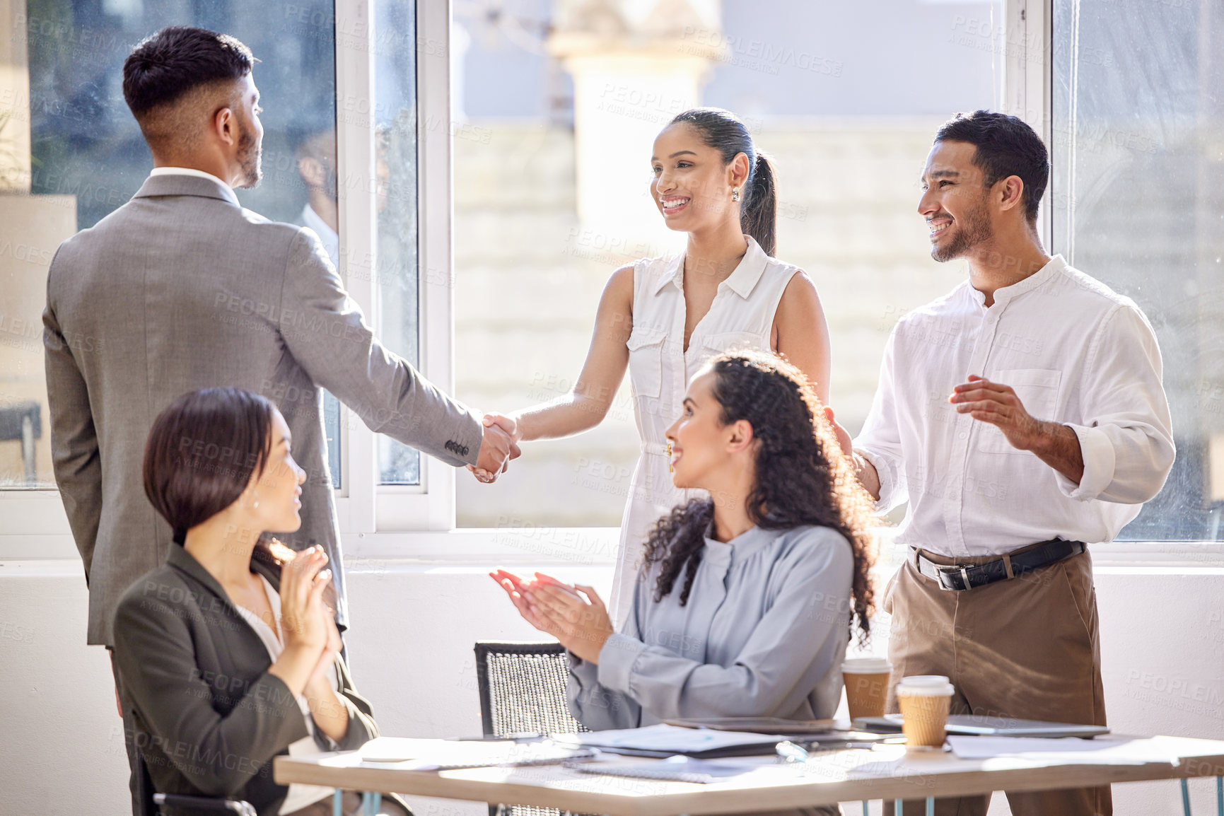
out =
<svg viewBox="0 0 1224 816"><path fill-rule="evenodd" d="M431 285L428 269L450 269L450 141L449 128L436 126L450 120L449 49L422 44L443 43L449 29L448 0L416 2L416 109L417 109L417 328L419 369L435 385L450 393L452 358L450 287ZM375 0L337 0L335 94L337 153L341 179L375 177L372 116L346 116L350 109L372 110L375 54L379 48ZM425 59L422 59L422 56ZM350 104L356 103L356 104ZM379 330L377 263L368 274L350 274L351 258L376 258L377 207L372 184L340 185L340 275L349 295L366 319ZM449 281L450 275L444 275ZM379 484L378 438L341 407L343 489L335 508L341 535L450 530L454 527L454 469L432 456L421 456L420 484Z"/></svg>

